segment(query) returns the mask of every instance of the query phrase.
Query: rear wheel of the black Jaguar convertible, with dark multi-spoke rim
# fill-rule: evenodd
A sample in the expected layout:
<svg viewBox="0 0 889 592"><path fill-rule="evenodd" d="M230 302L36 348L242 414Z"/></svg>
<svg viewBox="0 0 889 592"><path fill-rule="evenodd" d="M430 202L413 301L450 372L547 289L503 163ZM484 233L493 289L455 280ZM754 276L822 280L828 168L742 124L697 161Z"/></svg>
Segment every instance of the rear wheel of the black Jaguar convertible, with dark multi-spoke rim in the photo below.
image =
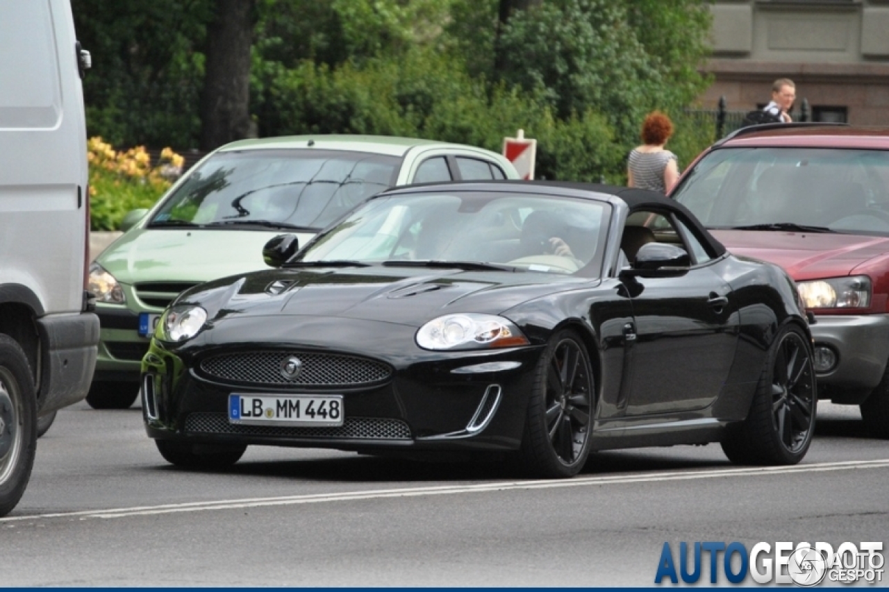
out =
<svg viewBox="0 0 889 592"><path fill-rule="evenodd" d="M769 349L747 419L726 428L725 456L744 465L795 465L812 444L818 396L805 332L786 325Z"/></svg>

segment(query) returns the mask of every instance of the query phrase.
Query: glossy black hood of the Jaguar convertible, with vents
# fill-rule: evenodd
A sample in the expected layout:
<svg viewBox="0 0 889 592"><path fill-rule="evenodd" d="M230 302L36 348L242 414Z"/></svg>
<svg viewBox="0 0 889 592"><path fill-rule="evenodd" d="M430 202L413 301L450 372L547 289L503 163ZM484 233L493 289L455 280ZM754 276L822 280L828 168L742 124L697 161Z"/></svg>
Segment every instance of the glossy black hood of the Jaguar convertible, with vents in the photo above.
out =
<svg viewBox="0 0 889 592"><path fill-rule="evenodd" d="M590 283L598 280L381 266L275 269L196 286L176 304L198 304L216 324L244 316L325 316L419 326L446 313L499 314Z"/></svg>

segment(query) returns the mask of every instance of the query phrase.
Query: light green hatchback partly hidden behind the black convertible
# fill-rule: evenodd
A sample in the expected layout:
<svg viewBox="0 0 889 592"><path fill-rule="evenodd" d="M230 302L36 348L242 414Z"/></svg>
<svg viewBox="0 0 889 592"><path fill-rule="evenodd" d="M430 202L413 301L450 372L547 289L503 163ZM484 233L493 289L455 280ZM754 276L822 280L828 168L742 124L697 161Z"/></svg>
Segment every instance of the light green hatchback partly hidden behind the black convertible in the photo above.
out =
<svg viewBox="0 0 889 592"><path fill-rule="evenodd" d="M265 268L262 248L272 237L291 233L305 244L396 185L517 178L497 153L432 140L307 135L218 148L151 210L127 214L123 236L93 261L101 334L86 401L94 409L132 405L140 361L167 304L193 285Z"/></svg>

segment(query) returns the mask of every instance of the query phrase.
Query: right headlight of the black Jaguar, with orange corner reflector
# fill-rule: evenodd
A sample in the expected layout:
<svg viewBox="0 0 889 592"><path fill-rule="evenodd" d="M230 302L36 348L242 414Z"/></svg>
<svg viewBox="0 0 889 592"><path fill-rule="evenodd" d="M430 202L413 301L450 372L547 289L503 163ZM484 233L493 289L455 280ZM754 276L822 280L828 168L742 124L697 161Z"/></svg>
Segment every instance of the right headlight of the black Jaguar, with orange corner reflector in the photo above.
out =
<svg viewBox="0 0 889 592"><path fill-rule="evenodd" d="M445 315L429 321L417 332L423 349L512 348L529 341L502 316Z"/></svg>

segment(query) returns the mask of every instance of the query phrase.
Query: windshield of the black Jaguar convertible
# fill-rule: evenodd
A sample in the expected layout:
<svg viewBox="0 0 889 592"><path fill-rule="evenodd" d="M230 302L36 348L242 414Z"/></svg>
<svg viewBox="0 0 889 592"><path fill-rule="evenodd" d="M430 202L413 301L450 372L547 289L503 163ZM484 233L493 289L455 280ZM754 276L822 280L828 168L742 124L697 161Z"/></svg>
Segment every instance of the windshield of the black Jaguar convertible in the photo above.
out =
<svg viewBox="0 0 889 592"><path fill-rule="evenodd" d="M610 208L588 199L505 192L380 196L316 236L293 264L446 263L593 276L601 267Z"/></svg>

